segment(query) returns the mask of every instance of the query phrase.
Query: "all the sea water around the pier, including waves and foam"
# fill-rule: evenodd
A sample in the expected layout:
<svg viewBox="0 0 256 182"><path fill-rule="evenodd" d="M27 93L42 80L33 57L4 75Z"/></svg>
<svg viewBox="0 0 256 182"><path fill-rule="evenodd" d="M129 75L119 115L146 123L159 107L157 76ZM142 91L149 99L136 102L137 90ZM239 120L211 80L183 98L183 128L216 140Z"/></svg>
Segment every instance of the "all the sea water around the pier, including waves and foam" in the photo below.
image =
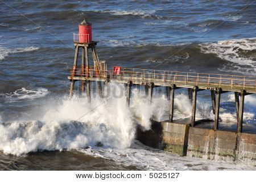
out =
<svg viewBox="0 0 256 182"><path fill-rule="evenodd" d="M240 163L180 157L142 145L135 128L167 119L164 88L153 104L133 88L110 83L92 103L76 87L68 98L72 33L93 24L100 60L112 66L256 76L253 1L0 2L0 169L255 170ZM96 86L93 86L96 88ZM197 120L214 118L207 91ZM233 93L221 96L222 123L236 124ZM245 132L256 122L256 97L245 98ZM189 118L187 90L175 96L175 119ZM247 126L247 127L246 127Z"/></svg>

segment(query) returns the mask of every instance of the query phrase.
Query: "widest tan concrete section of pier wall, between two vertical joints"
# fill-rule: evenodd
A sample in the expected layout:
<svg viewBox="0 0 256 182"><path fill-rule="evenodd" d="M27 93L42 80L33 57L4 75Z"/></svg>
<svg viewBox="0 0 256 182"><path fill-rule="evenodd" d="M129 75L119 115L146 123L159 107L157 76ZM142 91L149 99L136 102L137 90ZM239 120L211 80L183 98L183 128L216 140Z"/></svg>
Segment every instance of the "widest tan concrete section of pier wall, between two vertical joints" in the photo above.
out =
<svg viewBox="0 0 256 182"><path fill-rule="evenodd" d="M237 155L237 134L213 129L189 128L188 156L233 162Z"/></svg>

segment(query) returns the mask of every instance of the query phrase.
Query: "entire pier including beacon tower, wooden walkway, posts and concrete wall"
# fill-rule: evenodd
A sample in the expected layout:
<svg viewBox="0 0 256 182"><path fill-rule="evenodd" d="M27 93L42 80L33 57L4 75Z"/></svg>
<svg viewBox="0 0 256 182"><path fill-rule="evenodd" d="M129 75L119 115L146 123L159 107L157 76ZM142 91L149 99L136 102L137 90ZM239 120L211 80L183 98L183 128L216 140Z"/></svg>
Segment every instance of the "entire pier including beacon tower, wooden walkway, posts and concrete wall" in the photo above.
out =
<svg viewBox="0 0 256 182"><path fill-rule="evenodd" d="M81 40L83 40L81 42ZM256 166L256 135L243 133L243 110L245 96L256 94L256 77L228 74L189 73L174 70L150 70L114 66L108 69L106 61L100 61L96 52L96 41L88 41L88 34L74 34L75 59L68 76L71 82L70 96L76 82L81 82L81 92L86 92L91 100L90 83L96 82L98 95L109 82L126 85L126 104L130 107L133 86L144 87L148 104L152 104L154 88L166 87L169 105L167 121L152 121L151 130L143 131L138 127L137 139L142 143L179 155L196 156L225 161L242 161ZM81 64L79 52L81 50ZM92 53L93 65L89 65L88 54ZM104 84L102 84L104 83ZM179 123L174 118L175 90L187 88L191 100L191 120ZM213 128L196 127L197 92L208 90L214 113ZM236 132L219 130L220 101L225 92L233 92L237 115Z"/></svg>

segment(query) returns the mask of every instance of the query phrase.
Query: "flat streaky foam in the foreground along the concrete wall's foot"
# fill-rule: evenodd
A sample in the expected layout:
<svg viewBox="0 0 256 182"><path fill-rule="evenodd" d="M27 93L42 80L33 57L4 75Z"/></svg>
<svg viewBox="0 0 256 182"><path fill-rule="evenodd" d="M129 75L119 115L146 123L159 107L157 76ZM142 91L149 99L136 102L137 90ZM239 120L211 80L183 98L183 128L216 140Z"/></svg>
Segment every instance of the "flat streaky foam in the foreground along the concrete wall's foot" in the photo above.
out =
<svg viewBox="0 0 256 182"><path fill-rule="evenodd" d="M140 170L254 170L253 167L236 163L221 163L213 160L191 158L166 153L144 146L138 141L133 141L127 149L110 149L93 147L80 149L82 153L95 157L102 157L117 162L124 166L135 166Z"/></svg>

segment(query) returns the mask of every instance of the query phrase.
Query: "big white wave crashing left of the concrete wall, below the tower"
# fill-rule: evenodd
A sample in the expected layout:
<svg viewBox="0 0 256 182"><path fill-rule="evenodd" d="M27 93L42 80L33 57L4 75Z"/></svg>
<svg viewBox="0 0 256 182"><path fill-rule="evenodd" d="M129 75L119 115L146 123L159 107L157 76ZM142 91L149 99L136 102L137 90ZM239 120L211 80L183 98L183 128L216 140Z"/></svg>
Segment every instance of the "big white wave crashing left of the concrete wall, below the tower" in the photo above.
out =
<svg viewBox="0 0 256 182"><path fill-rule="evenodd" d="M116 91L119 87L112 88ZM51 101L46 105L48 112L39 120L20 119L0 125L0 150L21 155L37 150L81 149L99 142L129 147L135 127L125 97L112 94L109 98L108 104L97 98L92 104L76 97L59 105Z"/></svg>

